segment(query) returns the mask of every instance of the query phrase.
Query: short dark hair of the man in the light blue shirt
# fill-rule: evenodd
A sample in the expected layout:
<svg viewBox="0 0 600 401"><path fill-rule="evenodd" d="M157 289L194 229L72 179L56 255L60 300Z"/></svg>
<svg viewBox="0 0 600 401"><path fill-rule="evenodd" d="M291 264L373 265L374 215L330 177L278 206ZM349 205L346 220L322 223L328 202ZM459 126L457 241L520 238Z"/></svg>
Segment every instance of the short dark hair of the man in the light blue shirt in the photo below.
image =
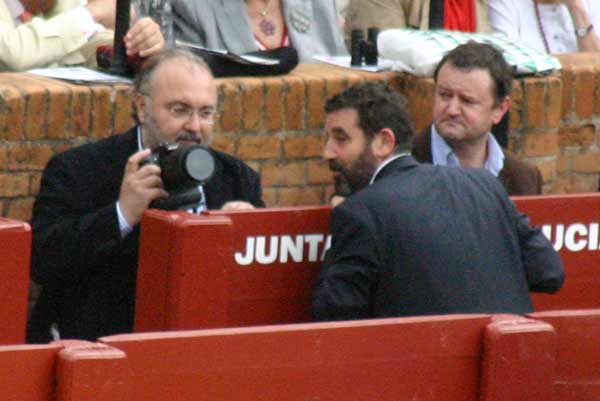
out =
<svg viewBox="0 0 600 401"><path fill-rule="evenodd" d="M437 77L444 66L450 63L460 70L470 71L474 68L486 70L492 77L495 91L495 104L504 100L512 89L512 68L504 59L502 52L489 44L468 42L455 47L446 54L435 68L433 78Z"/></svg>

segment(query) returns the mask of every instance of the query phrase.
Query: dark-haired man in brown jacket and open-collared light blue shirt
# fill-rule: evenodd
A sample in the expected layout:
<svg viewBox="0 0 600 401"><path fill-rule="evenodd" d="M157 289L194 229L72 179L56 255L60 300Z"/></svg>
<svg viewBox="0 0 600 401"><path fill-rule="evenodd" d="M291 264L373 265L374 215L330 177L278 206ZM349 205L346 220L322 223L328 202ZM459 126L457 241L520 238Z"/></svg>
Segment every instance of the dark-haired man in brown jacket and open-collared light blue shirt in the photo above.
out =
<svg viewBox="0 0 600 401"><path fill-rule="evenodd" d="M537 167L503 150L490 133L510 109L512 69L493 46L460 45L438 64L433 124L413 140L422 163L485 168L509 195L542 192Z"/></svg>

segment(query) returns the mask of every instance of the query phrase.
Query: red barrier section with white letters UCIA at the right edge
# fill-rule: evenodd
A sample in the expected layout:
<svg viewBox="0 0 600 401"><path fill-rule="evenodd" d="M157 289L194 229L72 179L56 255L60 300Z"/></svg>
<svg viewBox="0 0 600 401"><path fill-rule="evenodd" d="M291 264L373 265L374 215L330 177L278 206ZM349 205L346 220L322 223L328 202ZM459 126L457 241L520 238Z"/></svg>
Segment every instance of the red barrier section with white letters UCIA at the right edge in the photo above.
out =
<svg viewBox="0 0 600 401"><path fill-rule="evenodd" d="M565 267L556 294L532 294L536 311L600 308L600 194L515 197L517 208L542 226Z"/></svg>

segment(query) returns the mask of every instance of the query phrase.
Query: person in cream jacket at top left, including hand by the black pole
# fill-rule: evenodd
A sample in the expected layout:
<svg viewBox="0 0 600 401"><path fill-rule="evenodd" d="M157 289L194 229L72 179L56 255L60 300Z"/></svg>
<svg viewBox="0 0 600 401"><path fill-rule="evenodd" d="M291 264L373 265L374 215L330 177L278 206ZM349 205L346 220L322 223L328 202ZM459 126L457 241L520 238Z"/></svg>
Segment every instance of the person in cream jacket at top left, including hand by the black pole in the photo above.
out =
<svg viewBox="0 0 600 401"><path fill-rule="evenodd" d="M0 71L96 65L96 47L113 43L115 0L0 1ZM127 53L148 57L164 40L150 18L135 23L124 38Z"/></svg>

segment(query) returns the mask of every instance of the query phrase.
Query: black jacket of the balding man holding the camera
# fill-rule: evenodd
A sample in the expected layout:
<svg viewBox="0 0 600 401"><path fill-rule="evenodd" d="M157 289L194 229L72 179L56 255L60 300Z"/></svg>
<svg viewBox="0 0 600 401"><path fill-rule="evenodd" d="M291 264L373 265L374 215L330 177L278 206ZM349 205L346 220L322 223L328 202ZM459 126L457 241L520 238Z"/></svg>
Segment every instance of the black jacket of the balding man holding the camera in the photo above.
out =
<svg viewBox="0 0 600 401"><path fill-rule="evenodd" d="M32 278L43 286L28 341L93 340L133 328L139 227L121 239L115 203L136 130L53 157L33 208ZM204 186L207 206L229 200L264 206L260 180L243 162L214 151L216 171Z"/></svg>

